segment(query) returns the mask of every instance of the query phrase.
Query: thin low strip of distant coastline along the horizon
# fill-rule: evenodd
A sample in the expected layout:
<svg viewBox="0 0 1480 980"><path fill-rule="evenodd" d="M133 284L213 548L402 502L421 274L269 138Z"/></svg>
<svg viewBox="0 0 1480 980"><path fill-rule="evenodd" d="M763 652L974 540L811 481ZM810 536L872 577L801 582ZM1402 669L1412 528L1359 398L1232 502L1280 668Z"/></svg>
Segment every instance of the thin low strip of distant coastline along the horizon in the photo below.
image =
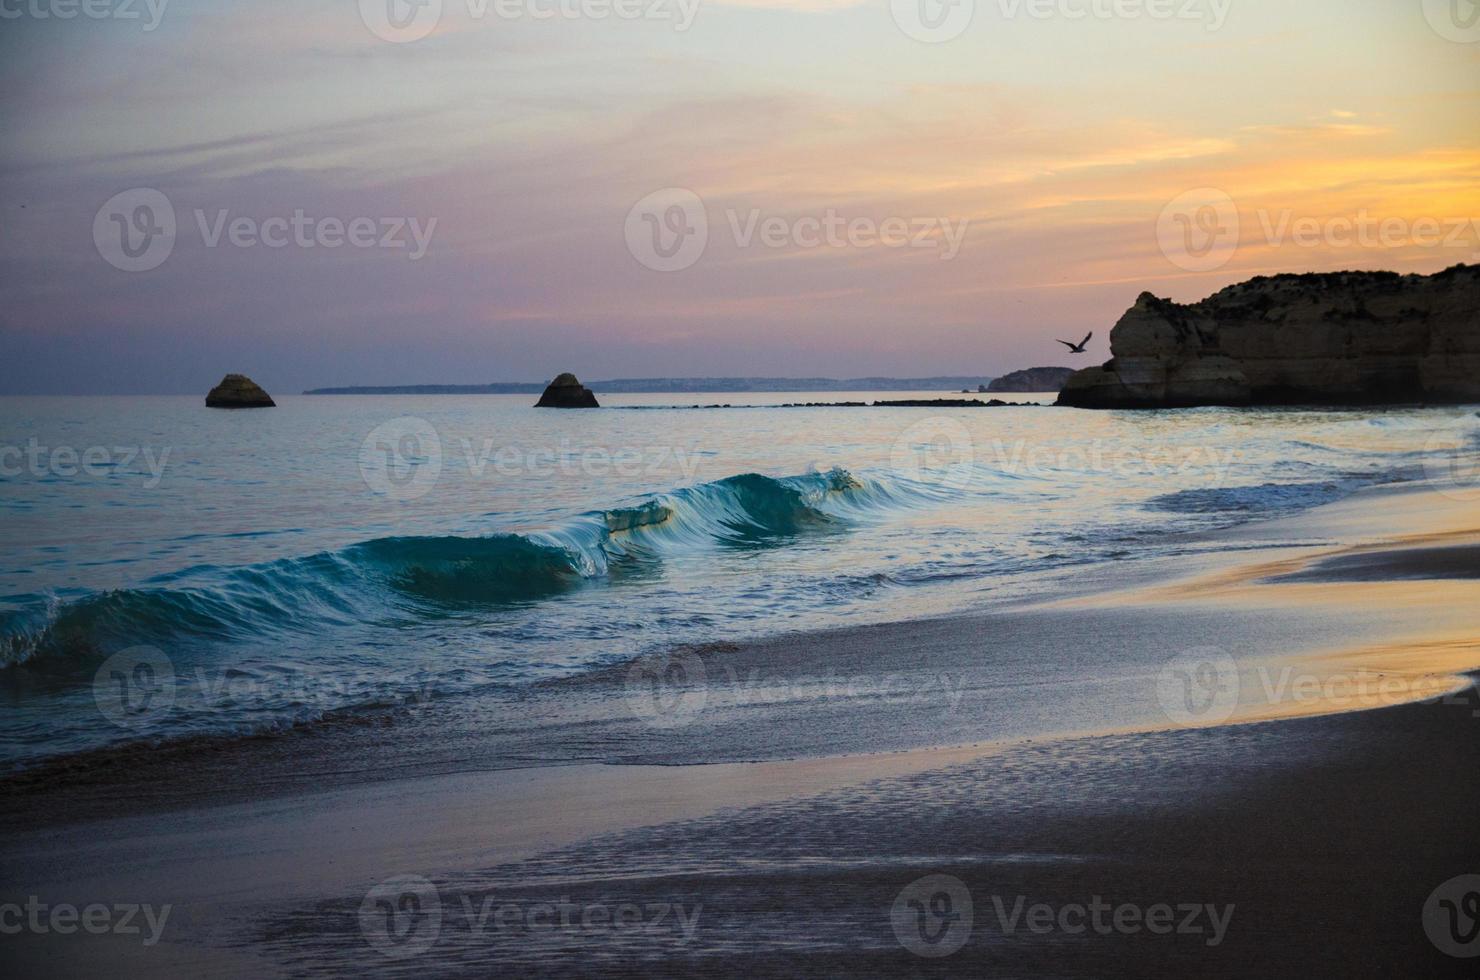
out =
<svg viewBox="0 0 1480 980"><path fill-rule="evenodd" d="M725 391L975 391L990 376L962 377L617 377L586 382L596 394L670 394ZM352 385L311 388L305 395L537 395L549 382L488 385Z"/></svg>

